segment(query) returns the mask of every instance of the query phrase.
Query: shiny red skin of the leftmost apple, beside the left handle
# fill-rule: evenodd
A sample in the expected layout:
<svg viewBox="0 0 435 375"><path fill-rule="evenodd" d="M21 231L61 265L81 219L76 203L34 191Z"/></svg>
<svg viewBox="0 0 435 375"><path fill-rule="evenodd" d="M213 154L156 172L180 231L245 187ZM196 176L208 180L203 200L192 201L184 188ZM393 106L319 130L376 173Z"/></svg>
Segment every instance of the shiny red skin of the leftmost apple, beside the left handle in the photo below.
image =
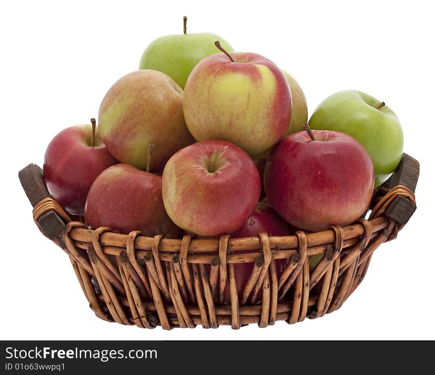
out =
<svg viewBox="0 0 435 375"><path fill-rule="evenodd" d="M90 185L107 167L118 161L101 143L92 125L76 125L58 133L48 144L44 156L44 181L48 192L65 211L83 216Z"/></svg>

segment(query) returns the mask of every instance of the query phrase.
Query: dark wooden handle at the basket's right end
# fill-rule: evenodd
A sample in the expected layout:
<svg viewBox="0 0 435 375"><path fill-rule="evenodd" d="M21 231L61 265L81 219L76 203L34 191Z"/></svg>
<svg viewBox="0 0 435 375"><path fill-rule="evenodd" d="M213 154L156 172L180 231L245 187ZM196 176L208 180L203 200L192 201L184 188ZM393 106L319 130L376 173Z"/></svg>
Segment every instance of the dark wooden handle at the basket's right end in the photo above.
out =
<svg viewBox="0 0 435 375"><path fill-rule="evenodd" d="M393 172L393 174L387 181L385 181L381 186L377 188L375 198L372 202L372 208L385 194L387 194L395 186L406 186L414 193L417 186L419 174L420 164L418 160L412 158L408 154L403 153L402 159L400 160L400 163ZM404 225L408 222L409 218L412 216L416 208L417 206L415 205L415 203L399 195L395 197L394 200L390 203L389 207L385 211L385 214L399 224Z"/></svg>

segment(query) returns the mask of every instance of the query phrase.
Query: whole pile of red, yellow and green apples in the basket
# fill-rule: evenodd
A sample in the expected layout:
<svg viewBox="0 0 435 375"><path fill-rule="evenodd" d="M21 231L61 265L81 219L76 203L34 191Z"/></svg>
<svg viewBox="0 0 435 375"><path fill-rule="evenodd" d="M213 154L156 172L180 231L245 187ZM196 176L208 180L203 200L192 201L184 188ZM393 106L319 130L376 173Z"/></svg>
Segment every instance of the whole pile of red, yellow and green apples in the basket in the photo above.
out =
<svg viewBox="0 0 435 375"><path fill-rule="evenodd" d="M309 125L307 117L292 76L215 34L187 34L184 18L183 34L156 39L139 70L110 87L98 127L92 119L54 137L44 179L73 218L125 234L253 237L348 225L398 165L401 125L355 90L326 98ZM240 288L252 267L237 265Z"/></svg>

